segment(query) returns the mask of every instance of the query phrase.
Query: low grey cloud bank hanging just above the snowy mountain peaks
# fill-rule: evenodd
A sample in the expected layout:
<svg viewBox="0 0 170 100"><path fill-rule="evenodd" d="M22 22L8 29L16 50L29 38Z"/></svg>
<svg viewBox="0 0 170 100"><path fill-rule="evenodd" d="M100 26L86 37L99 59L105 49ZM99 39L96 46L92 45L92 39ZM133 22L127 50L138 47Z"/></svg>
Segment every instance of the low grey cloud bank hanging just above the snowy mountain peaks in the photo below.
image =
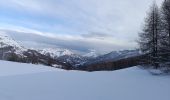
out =
<svg viewBox="0 0 170 100"><path fill-rule="evenodd" d="M133 43L124 43L123 41L114 40L113 38L98 39L96 37L82 37L79 35L55 35L46 36L37 33L27 33L17 30L1 30L10 35L21 45L28 48L65 48L76 52L88 52L90 49L96 50L98 53L108 53L113 50L134 48ZM45 33L44 33L45 34Z"/></svg>

